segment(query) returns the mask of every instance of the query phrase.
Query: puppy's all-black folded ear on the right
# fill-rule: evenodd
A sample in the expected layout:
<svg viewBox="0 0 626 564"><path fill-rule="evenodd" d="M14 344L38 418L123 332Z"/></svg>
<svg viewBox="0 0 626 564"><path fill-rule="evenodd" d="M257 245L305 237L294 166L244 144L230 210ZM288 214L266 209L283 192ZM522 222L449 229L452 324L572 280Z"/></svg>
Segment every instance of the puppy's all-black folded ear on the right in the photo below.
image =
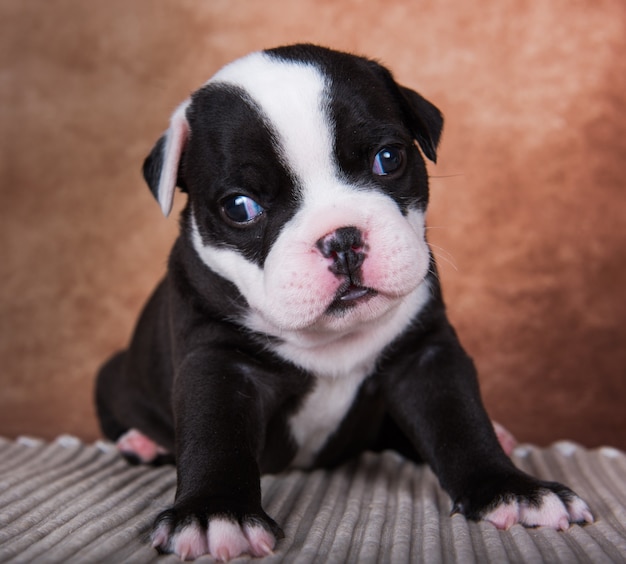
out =
<svg viewBox="0 0 626 564"><path fill-rule="evenodd" d="M437 145L443 129L443 115L426 98L404 86L398 87L405 102L411 132L426 157L437 162Z"/></svg>

